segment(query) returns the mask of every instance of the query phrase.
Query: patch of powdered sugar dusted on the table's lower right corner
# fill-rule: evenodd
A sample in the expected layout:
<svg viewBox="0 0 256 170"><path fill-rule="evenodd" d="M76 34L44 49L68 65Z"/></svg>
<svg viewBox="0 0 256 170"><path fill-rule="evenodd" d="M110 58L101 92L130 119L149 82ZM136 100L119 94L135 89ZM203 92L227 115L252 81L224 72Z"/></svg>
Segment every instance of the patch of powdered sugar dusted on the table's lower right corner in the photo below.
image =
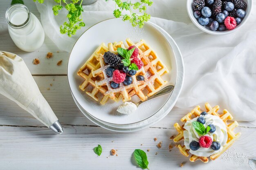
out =
<svg viewBox="0 0 256 170"><path fill-rule="evenodd" d="M229 148L226 152L224 152L221 157L224 161L235 163L236 166L241 166L244 163L247 163L249 160L248 155L245 153L239 152L234 147Z"/></svg>

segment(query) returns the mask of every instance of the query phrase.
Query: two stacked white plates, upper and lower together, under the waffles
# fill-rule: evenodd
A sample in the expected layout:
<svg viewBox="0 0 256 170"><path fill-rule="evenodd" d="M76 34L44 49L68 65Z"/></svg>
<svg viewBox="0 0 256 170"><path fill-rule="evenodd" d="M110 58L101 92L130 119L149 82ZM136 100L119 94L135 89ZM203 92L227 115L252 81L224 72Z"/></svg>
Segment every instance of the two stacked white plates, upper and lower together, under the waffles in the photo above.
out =
<svg viewBox="0 0 256 170"><path fill-rule="evenodd" d="M121 101L108 101L101 105L90 98L80 90L79 85L83 79L76 74L102 42L125 42L126 38L135 43L144 39L170 71L163 79L168 81L167 85L175 86L172 93L143 102L135 113L130 115L116 112L117 107L122 104ZM148 22L143 29L138 29L132 27L129 22L113 18L90 27L77 40L70 53L67 76L74 101L88 119L108 130L132 132L152 126L171 111L182 89L184 64L175 41L156 24ZM132 97L132 100L136 99Z"/></svg>

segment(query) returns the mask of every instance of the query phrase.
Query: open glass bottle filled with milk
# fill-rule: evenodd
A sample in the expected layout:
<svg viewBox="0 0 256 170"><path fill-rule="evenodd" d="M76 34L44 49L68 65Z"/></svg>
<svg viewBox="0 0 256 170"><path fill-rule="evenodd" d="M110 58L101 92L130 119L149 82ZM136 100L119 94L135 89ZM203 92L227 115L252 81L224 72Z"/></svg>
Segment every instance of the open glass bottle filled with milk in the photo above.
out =
<svg viewBox="0 0 256 170"><path fill-rule="evenodd" d="M14 4L6 11L8 31L14 44L23 51L35 51L42 46L45 32L40 21L25 5Z"/></svg>

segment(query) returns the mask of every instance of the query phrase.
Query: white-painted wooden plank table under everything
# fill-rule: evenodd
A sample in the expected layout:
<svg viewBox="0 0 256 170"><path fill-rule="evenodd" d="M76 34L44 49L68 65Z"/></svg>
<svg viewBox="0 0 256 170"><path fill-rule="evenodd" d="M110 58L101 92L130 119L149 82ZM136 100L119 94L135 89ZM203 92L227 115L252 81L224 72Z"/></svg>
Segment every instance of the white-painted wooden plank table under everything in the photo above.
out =
<svg viewBox="0 0 256 170"><path fill-rule="evenodd" d="M25 0L25 4L40 18L32 0ZM173 124L180 122L191 108L173 108L162 121L139 132L112 132L93 124L72 99L67 83L69 54L59 51L47 37L38 51L27 53L18 49L7 31L4 14L9 5L10 0L0 1L0 50L16 53L25 60L64 132L54 134L17 104L0 95L1 170L135 170L140 169L132 157L137 148L150 149L146 152L150 170L180 169L180 163L184 163L184 170L256 169L256 126L249 122L239 122L236 131L242 133L240 139L222 157L207 164L201 161L191 163L177 148L171 152L168 149L173 142L169 138L176 134ZM52 52L54 57L46 59L47 52ZM33 65L34 58L39 58L40 64ZM63 60L61 66L56 65L59 60ZM154 137L157 141L153 140ZM162 141L160 149L156 146L159 141ZM103 147L100 157L93 152L98 144ZM111 149L116 149L118 156L110 156Z"/></svg>

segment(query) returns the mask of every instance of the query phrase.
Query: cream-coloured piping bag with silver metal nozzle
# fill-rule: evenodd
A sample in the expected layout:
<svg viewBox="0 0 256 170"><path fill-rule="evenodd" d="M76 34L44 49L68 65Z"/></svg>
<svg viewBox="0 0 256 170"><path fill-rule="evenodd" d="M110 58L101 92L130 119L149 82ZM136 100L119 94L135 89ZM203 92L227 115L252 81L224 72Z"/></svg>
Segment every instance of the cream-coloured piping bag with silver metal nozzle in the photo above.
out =
<svg viewBox="0 0 256 170"><path fill-rule="evenodd" d="M0 51L0 94L16 102L54 132L63 132L25 62L18 55L4 51Z"/></svg>

